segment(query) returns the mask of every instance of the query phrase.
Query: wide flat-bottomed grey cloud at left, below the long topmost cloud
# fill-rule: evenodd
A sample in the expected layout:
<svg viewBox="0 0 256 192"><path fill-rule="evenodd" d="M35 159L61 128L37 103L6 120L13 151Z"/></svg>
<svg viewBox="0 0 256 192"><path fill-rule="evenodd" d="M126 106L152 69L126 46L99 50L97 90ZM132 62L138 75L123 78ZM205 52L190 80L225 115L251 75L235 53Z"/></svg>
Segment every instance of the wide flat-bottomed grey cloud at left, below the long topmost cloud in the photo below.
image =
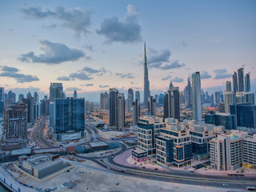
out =
<svg viewBox="0 0 256 192"><path fill-rule="evenodd" d="M42 62L47 65L56 65L62 62L77 61L85 56L82 50L69 48L62 43L49 42L47 40L41 40L39 43L43 54L37 56L31 51L27 54L22 54L22 57L18 59L22 62Z"/></svg>

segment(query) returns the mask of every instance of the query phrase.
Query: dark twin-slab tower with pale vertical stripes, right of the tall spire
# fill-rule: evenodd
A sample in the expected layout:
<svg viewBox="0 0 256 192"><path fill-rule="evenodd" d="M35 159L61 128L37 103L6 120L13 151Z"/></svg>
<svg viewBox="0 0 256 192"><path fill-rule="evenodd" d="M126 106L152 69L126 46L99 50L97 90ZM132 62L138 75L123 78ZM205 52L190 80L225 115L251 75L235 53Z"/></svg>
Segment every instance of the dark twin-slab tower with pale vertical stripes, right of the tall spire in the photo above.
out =
<svg viewBox="0 0 256 192"><path fill-rule="evenodd" d="M180 118L180 108L179 108L179 89L178 87L171 87L165 93L164 96L164 118Z"/></svg>

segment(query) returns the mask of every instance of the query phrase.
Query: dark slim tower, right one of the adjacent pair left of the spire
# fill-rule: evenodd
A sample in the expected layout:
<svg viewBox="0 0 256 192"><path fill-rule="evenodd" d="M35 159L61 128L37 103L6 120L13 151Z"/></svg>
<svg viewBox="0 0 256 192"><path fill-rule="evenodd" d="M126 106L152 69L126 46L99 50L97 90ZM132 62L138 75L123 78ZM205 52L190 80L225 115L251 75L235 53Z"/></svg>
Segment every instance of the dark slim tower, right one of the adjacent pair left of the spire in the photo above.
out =
<svg viewBox="0 0 256 192"><path fill-rule="evenodd" d="M117 108L117 128L121 130L125 127L125 97L123 94L118 94L118 108Z"/></svg>

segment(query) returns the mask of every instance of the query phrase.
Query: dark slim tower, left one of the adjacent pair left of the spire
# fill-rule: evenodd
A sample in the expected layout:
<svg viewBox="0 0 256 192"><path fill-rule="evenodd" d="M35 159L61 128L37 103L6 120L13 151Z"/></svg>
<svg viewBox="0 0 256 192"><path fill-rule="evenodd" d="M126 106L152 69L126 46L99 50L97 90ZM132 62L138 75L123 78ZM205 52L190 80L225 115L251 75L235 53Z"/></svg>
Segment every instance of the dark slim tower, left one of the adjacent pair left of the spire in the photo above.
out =
<svg viewBox="0 0 256 192"><path fill-rule="evenodd" d="M110 125L117 126L118 90L110 89Z"/></svg>

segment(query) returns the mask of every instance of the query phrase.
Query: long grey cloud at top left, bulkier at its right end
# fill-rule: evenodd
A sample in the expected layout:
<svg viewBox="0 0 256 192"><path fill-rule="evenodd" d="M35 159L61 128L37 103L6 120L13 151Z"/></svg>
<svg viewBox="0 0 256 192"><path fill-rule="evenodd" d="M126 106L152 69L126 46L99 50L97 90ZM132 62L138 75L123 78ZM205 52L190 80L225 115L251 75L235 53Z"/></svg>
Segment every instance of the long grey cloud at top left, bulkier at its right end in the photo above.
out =
<svg viewBox="0 0 256 192"><path fill-rule="evenodd" d="M65 10L63 6L57 6L55 10L42 10L42 7L24 6L21 11L26 18L56 18L62 21L62 26L74 30L78 37L90 33L91 10L82 10L80 7Z"/></svg>

